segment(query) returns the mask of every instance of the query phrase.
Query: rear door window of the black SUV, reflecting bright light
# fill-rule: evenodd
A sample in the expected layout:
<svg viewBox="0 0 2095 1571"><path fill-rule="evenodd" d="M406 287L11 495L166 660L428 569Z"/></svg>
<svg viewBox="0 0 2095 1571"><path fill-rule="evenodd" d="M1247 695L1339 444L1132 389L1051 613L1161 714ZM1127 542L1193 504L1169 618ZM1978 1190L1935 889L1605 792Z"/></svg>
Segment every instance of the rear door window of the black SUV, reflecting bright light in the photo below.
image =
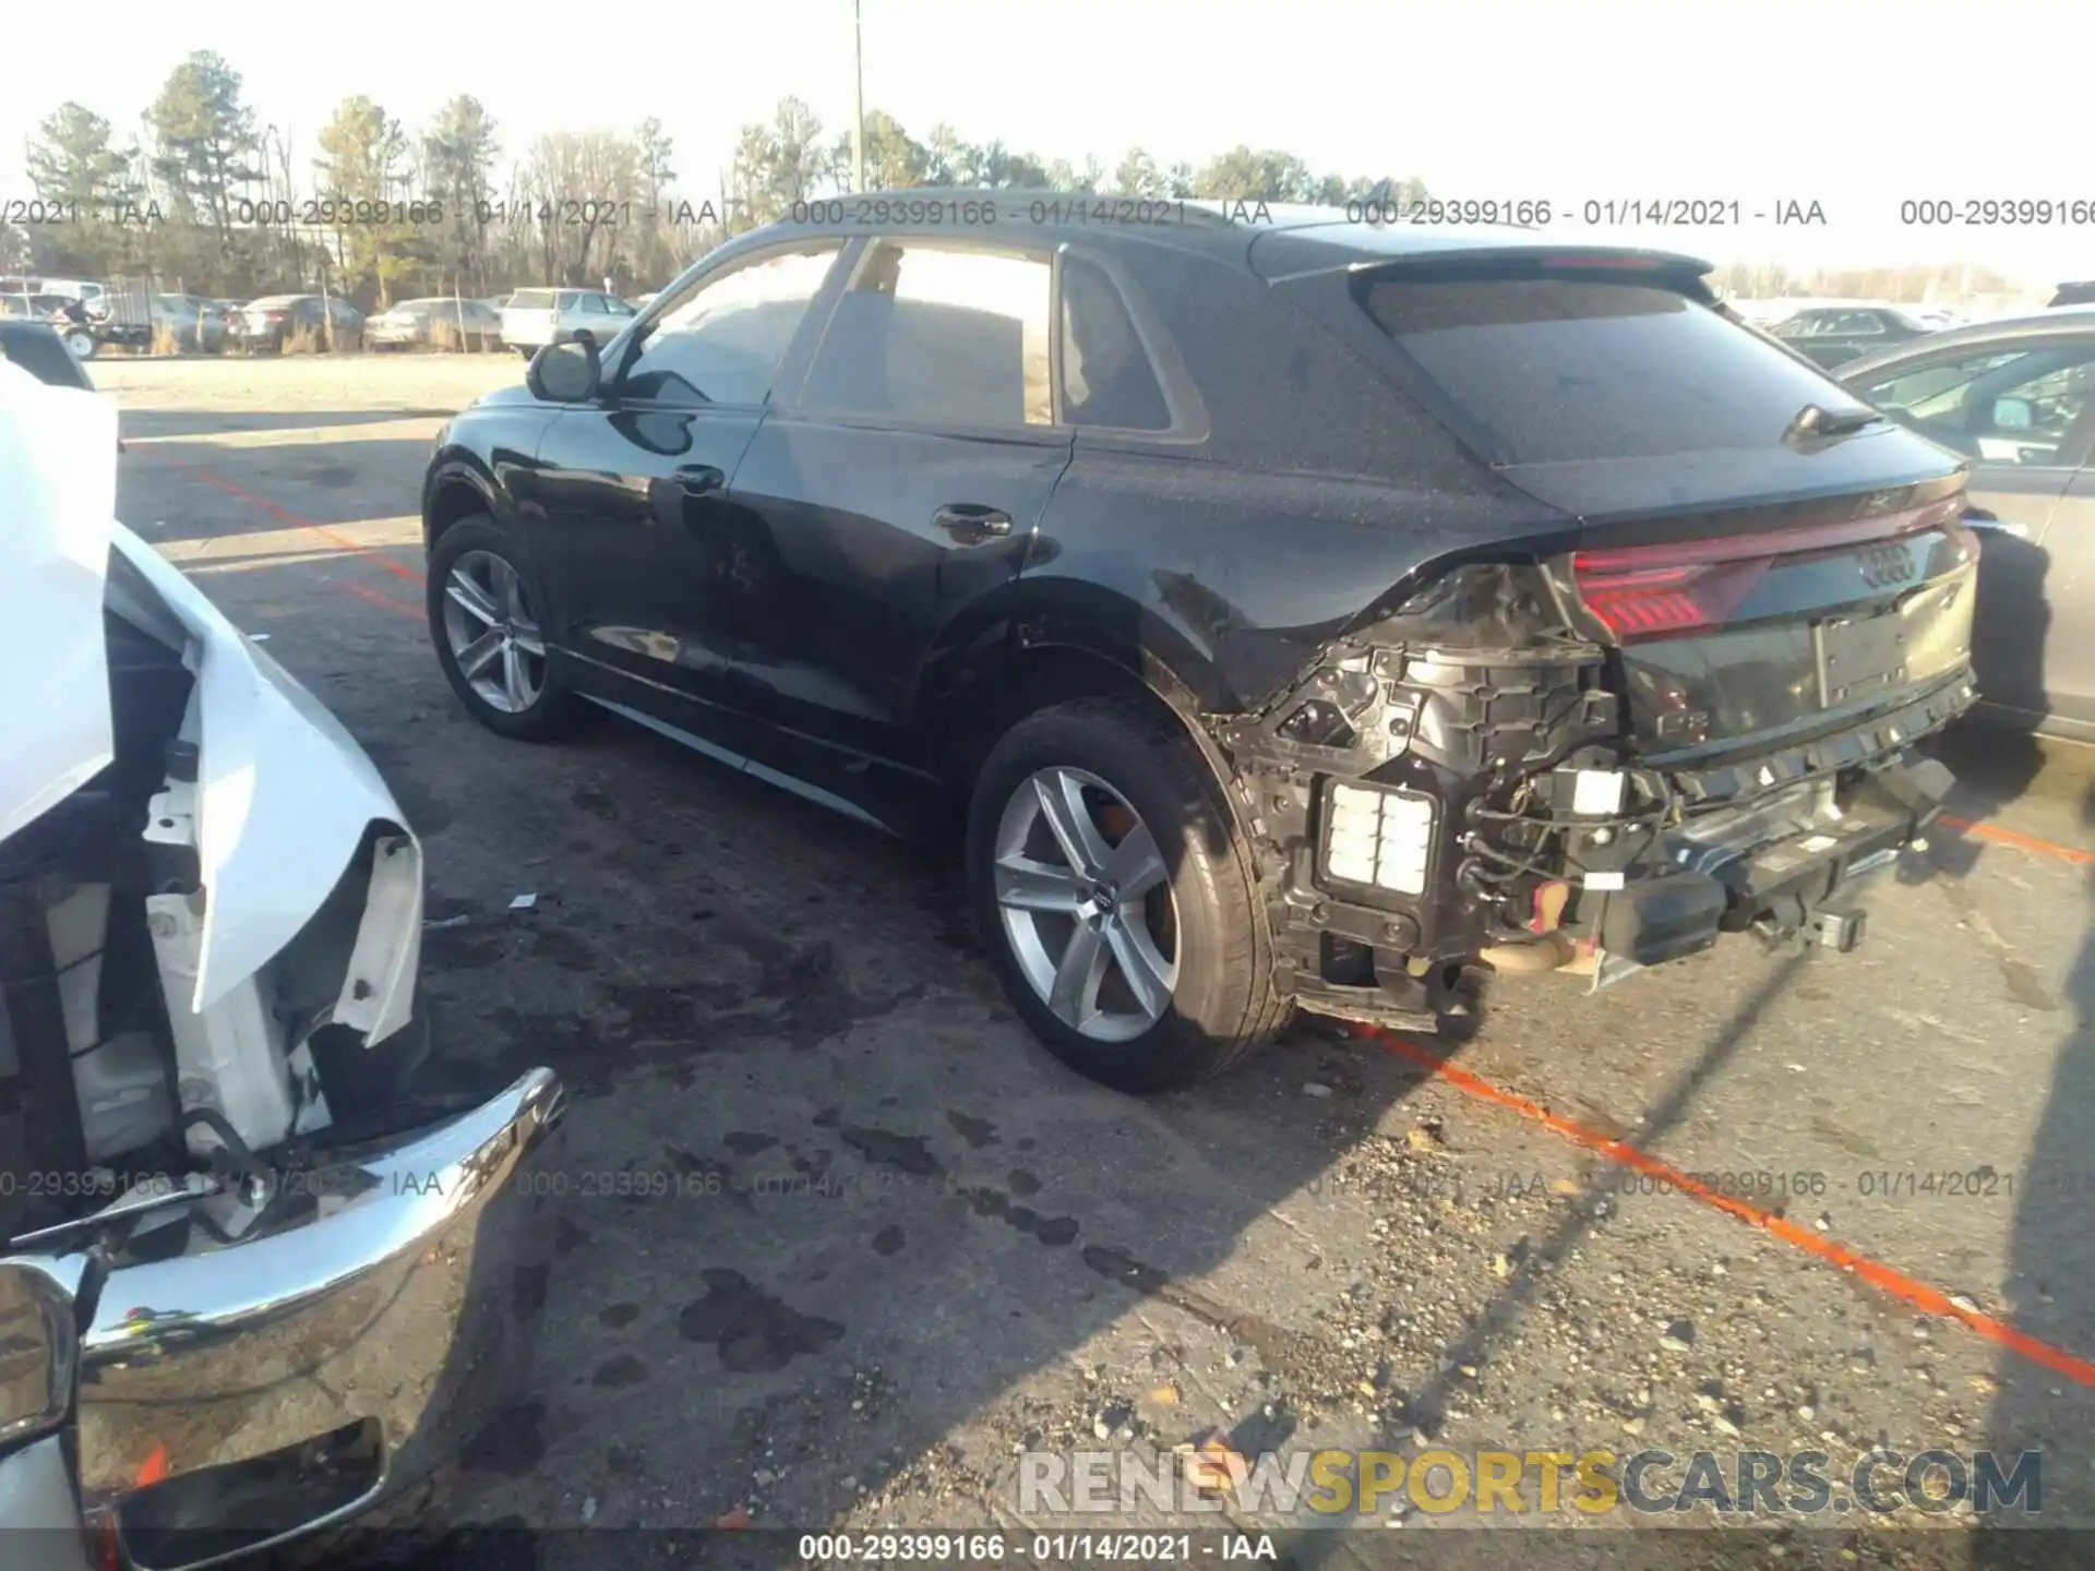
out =
<svg viewBox="0 0 2095 1571"><path fill-rule="evenodd" d="M802 402L928 425L1052 425L1050 295L1045 258L878 241Z"/></svg>

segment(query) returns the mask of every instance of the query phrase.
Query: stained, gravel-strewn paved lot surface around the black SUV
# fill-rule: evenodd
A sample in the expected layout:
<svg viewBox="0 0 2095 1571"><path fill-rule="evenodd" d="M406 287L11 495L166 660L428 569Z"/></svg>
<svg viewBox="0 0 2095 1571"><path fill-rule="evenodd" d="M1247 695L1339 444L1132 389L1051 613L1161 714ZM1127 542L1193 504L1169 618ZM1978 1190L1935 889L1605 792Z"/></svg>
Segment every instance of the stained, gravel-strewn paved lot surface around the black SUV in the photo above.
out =
<svg viewBox="0 0 2095 1571"><path fill-rule="evenodd" d="M1961 748L1961 825L1883 876L1856 955L1508 980L1448 1068L1303 1022L1138 1102L1031 1043L936 859L635 727L530 748L465 718L421 620L419 482L442 415L517 360L92 375L124 408L124 519L268 635L425 838L434 1081L551 1064L578 1098L559 1265L522 1305L536 1374L427 1521L591 1529L536 1540L547 1567L723 1519L1186 1527L1022 1512L1018 1452L1211 1437L1829 1456L1825 1512L1766 1517L1745 1558L1670 1535L1670 1565L2036 1552L1967 1508L1862 1535L1848 1479L1877 1447L2041 1447L2041 1521L2095 1517L2082 756ZM1508 1521L1395 1500L1299 1561ZM1492 1544L1431 1563L1508 1563Z"/></svg>

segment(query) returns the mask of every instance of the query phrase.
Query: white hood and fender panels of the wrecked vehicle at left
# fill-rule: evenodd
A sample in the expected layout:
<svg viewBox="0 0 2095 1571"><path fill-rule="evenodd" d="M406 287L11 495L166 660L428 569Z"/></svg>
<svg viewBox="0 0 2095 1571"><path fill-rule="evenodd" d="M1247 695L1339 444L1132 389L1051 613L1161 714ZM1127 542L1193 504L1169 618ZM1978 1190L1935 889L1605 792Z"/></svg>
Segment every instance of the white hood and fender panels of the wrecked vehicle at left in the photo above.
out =
<svg viewBox="0 0 2095 1571"><path fill-rule="evenodd" d="M371 823L406 829L413 857L373 880L354 987L337 1020L369 1041L411 1012L421 959L421 844L341 723L210 599L115 522L115 406L46 388L0 360L0 658L40 672L0 752L0 838L78 790L113 750L103 603L111 551L189 633L197 679L195 823L205 892L193 1008L207 1010L335 890ZM27 551L17 543L27 540ZM142 827L142 825L140 825ZM151 838L166 838L153 834Z"/></svg>

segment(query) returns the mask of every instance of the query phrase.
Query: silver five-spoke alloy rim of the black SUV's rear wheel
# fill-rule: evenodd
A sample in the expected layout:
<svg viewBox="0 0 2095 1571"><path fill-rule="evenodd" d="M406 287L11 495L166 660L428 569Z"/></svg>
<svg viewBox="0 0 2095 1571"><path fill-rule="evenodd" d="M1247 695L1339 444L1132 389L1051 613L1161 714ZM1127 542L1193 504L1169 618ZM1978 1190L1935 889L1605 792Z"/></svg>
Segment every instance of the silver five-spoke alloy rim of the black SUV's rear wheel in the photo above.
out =
<svg viewBox="0 0 2095 1571"><path fill-rule="evenodd" d="M1094 1041L1131 1041L1171 1008L1177 907L1142 815L1081 769L1024 779L997 821L1004 936L1048 1010Z"/></svg>

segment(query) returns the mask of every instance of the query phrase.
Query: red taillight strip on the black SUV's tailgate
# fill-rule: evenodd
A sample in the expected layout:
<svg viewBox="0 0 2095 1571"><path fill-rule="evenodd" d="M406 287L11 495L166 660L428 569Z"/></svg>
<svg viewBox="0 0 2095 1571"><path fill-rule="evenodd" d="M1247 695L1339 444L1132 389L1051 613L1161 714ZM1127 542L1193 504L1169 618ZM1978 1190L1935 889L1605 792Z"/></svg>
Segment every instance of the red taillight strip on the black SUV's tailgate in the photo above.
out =
<svg viewBox="0 0 2095 1571"><path fill-rule="evenodd" d="M1580 599L1619 639L1657 639L1722 626L1783 557L1808 557L1942 528L1963 496L1904 513L1850 517L1791 530L1714 534L1695 540L1580 551L1571 576Z"/></svg>

